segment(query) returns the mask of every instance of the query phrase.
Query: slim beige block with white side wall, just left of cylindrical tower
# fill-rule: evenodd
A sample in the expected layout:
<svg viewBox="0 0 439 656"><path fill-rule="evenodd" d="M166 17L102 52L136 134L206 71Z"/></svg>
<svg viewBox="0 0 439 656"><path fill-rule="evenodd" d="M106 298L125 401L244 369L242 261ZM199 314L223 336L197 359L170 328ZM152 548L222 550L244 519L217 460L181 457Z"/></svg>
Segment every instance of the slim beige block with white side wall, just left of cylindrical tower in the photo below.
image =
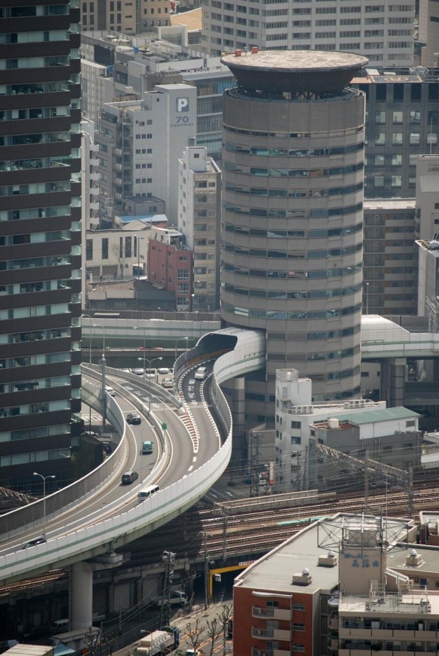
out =
<svg viewBox="0 0 439 656"><path fill-rule="evenodd" d="M219 305L221 171L203 146L189 146L178 160L178 230L193 256L192 307Z"/></svg>

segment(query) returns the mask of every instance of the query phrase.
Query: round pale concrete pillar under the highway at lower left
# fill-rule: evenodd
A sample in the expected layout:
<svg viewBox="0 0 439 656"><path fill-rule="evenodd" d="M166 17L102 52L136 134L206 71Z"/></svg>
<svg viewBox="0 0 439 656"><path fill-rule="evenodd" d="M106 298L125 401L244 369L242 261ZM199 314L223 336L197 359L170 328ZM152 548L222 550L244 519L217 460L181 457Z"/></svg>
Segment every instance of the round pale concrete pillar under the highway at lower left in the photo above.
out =
<svg viewBox="0 0 439 656"><path fill-rule="evenodd" d="M93 569L91 563L75 563L70 568L70 630L93 624Z"/></svg>

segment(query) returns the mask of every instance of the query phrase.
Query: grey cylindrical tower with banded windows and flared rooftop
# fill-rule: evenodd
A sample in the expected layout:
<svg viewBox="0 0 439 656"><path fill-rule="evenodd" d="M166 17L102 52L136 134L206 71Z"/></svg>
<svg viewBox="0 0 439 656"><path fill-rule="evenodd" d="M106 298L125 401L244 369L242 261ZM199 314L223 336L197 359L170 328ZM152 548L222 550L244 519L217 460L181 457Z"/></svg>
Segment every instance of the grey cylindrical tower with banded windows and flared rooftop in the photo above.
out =
<svg viewBox="0 0 439 656"><path fill-rule="evenodd" d="M267 394L289 367L313 400L360 392L365 101L348 84L367 61L222 57L237 78L223 103L222 318L265 330Z"/></svg>

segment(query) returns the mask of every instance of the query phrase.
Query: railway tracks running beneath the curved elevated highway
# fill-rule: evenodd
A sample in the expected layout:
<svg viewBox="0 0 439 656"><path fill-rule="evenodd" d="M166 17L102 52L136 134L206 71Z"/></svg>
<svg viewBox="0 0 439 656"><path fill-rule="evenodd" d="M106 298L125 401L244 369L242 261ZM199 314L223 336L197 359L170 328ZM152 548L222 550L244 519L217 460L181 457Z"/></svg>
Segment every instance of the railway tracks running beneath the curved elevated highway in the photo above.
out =
<svg viewBox="0 0 439 656"><path fill-rule="evenodd" d="M435 479L436 480L436 479ZM413 493L413 514L420 511L439 510L439 488L428 487L429 481L420 485ZM276 497L273 496L273 505ZM270 500L271 501L271 500ZM137 564L143 566L161 562L163 550L172 550L176 558L187 558L193 562L204 561L204 536L209 558L222 563L224 551L227 559L252 557L257 558L263 553L281 544L294 533L302 530L317 518L331 516L335 513L386 513L391 517L407 517L408 500L404 491L379 491L370 496L367 509L362 496L355 493L335 494L334 492L316 497L316 502L307 505L291 507L291 502L285 499L283 507L265 509L247 509L252 507L241 504L237 508L227 502L219 507L199 503L171 524L157 529L145 538L130 545L131 558L128 566ZM260 502L254 507L260 507ZM235 506L235 507L234 507ZM66 570L47 572L45 576L27 579L0 588L0 596L13 595L18 590L47 586L67 579Z"/></svg>

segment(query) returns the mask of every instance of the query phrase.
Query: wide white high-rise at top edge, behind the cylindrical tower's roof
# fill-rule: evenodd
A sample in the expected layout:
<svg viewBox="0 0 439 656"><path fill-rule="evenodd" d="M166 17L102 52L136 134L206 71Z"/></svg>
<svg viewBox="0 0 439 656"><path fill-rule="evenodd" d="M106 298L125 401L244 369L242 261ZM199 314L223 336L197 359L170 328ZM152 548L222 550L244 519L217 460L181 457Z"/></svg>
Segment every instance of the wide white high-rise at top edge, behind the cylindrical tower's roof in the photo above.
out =
<svg viewBox="0 0 439 656"><path fill-rule="evenodd" d="M206 52L325 50L355 52L372 64L413 66L414 2L392 0L202 0Z"/></svg>

